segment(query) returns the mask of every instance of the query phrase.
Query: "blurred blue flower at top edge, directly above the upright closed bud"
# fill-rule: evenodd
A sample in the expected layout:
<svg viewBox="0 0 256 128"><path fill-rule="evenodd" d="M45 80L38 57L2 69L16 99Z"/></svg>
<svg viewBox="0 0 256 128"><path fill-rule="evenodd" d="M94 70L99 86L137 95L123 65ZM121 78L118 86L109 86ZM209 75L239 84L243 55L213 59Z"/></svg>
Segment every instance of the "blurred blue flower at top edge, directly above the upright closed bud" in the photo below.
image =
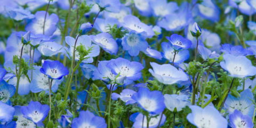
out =
<svg viewBox="0 0 256 128"><path fill-rule="evenodd" d="M206 0L197 4L197 9L202 18L213 22L219 21L220 19L220 9L211 0Z"/></svg>

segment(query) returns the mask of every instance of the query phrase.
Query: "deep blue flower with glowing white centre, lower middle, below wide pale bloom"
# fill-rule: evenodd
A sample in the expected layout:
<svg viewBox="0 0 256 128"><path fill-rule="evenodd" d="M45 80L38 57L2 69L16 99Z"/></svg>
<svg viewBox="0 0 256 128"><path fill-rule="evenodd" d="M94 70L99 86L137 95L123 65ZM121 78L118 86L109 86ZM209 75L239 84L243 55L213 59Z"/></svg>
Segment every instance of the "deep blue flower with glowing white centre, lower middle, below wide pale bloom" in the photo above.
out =
<svg viewBox="0 0 256 128"><path fill-rule="evenodd" d="M145 87L140 87L137 93L132 95L139 107L150 114L160 114L165 109L164 96L160 91L151 91Z"/></svg>

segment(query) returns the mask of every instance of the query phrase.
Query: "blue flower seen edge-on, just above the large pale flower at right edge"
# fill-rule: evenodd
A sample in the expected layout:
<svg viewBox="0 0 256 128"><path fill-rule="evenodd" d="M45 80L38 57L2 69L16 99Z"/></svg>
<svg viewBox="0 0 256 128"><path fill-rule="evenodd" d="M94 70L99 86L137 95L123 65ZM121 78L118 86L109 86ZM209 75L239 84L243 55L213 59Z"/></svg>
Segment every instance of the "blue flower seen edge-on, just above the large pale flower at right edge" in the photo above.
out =
<svg viewBox="0 0 256 128"><path fill-rule="evenodd" d="M251 50L244 49L241 45L232 46L230 44L222 44L220 47L220 51L225 54L231 54L234 56L253 54Z"/></svg>

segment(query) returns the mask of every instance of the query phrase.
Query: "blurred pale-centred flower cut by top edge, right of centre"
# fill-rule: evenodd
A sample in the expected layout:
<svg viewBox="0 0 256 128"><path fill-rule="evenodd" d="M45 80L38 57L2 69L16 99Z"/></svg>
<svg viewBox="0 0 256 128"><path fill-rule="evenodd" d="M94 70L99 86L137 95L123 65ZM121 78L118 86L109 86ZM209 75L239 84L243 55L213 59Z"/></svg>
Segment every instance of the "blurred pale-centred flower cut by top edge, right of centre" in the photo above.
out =
<svg viewBox="0 0 256 128"><path fill-rule="evenodd" d="M179 9L179 6L176 2L167 2L164 1L150 1L150 6L153 9L153 14L156 17L164 17L167 14L171 14L174 11Z"/></svg>

